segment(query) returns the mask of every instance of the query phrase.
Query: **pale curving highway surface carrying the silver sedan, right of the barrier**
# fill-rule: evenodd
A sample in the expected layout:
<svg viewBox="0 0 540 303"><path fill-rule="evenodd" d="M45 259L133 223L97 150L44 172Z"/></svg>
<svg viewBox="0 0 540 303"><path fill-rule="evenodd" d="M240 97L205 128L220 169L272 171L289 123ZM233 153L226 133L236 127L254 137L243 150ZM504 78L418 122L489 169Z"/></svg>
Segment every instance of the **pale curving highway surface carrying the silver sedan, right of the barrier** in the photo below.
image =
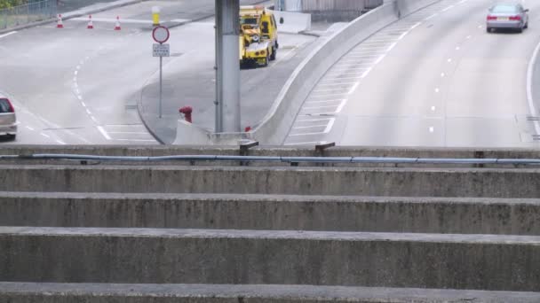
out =
<svg viewBox="0 0 540 303"><path fill-rule="evenodd" d="M525 33L488 34L494 2L443 0L359 44L317 84L285 144L538 146L527 75L540 3L525 2Z"/></svg>

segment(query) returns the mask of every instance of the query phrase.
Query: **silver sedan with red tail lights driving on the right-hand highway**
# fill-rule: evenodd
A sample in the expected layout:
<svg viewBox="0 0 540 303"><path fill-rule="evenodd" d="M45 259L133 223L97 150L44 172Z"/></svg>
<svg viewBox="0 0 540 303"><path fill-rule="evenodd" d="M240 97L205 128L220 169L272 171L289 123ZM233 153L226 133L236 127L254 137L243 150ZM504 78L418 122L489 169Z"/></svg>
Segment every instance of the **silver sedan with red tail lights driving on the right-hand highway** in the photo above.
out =
<svg viewBox="0 0 540 303"><path fill-rule="evenodd" d="M499 28L515 29L522 32L528 27L528 10L521 4L496 4L489 9L487 18L487 30Z"/></svg>

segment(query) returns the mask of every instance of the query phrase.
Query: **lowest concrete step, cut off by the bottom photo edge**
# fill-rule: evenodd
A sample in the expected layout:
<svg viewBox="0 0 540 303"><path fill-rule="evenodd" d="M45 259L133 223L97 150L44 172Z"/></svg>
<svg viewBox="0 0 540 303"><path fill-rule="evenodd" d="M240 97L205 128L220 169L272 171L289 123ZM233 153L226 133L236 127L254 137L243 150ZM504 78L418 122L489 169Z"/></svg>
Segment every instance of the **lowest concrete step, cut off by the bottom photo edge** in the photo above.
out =
<svg viewBox="0 0 540 303"><path fill-rule="evenodd" d="M312 285L0 283L10 303L537 303L540 293Z"/></svg>

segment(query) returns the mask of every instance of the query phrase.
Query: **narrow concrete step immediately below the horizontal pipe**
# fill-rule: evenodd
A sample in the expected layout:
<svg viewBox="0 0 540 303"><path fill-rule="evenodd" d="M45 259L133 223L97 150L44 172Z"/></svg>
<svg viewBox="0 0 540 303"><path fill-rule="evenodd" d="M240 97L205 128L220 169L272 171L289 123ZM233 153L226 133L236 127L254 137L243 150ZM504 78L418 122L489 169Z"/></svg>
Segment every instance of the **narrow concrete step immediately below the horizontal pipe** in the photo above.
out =
<svg viewBox="0 0 540 303"><path fill-rule="evenodd" d="M0 166L2 191L540 197L540 169Z"/></svg>

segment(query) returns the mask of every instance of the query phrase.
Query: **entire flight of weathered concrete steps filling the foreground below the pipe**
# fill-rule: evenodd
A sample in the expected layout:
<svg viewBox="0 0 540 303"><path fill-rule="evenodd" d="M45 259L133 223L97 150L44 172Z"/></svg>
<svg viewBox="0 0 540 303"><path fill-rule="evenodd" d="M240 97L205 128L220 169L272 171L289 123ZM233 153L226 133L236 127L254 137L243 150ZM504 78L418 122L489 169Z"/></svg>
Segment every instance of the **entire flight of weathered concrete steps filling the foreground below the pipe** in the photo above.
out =
<svg viewBox="0 0 540 303"><path fill-rule="evenodd" d="M540 301L534 168L0 168L0 302Z"/></svg>

